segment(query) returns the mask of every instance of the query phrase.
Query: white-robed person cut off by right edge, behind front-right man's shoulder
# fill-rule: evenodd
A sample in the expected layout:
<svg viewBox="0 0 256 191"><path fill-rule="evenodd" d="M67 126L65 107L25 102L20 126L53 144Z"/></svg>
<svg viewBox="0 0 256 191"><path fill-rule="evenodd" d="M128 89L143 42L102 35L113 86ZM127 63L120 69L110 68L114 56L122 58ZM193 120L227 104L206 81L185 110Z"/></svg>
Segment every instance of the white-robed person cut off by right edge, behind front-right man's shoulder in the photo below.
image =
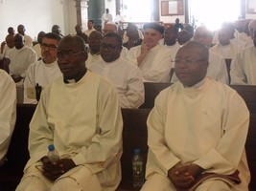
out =
<svg viewBox="0 0 256 191"><path fill-rule="evenodd" d="M256 29L253 32L254 46L244 48L231 62L231 84L256 85Z"/></svg>

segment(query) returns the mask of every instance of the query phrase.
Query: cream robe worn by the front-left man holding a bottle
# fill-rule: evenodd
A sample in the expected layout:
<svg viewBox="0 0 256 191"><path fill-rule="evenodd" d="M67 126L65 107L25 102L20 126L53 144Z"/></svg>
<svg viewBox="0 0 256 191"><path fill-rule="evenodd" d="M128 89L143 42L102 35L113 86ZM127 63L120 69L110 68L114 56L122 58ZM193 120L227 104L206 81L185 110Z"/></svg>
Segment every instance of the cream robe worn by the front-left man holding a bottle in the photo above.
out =
<svg viewBox="0 0 256 191"><path fill-rule="evenodd" d="M121 180L122 130L118 96L111 83L90 71L76 83L64 83L59 77L43 90L31 120L31 159L23 178L47 181L37 168L48 145L54 144L60 159L73 159L77 165L58 180L71 177L86 190L82 173L77 173L85 167L98 177L103 190L115 190Z"/></svg>

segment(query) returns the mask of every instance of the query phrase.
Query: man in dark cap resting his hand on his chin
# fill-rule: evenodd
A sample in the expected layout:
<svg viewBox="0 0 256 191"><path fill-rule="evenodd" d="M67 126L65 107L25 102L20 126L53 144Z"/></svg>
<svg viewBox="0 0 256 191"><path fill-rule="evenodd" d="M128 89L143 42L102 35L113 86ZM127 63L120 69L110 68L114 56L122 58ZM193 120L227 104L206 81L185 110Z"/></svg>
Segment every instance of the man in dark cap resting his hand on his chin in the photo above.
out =
<svg viewBox="0 0 256 191"><path fill-rule="evenodd" d="M126 58L140 68L145 82L170 82L172 53L165 46L159 45L164 27L157 23L143 26L145 33L140 46L132 47Z"/></svg>

